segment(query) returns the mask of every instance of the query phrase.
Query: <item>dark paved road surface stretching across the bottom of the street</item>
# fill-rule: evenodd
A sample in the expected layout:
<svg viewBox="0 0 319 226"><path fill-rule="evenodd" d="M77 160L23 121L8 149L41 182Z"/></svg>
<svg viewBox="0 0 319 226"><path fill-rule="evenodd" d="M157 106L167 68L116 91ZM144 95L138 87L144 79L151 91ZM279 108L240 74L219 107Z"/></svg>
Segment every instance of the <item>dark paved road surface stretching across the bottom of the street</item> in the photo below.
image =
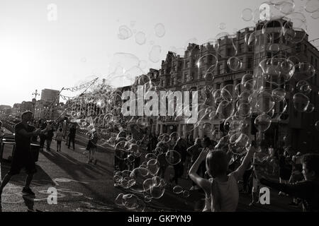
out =
<svg viewBox="0 0 319 226"><path fill-rule="evenodd" d="M84 144L84 141L82 141ZM99 148L96 153L97 165L86 163L87 155L84 145L77 142L75 150L67 148L62 142L62 151L56 151L56 142L52 141L51 150L40 152L36 162L38 172L33 178L31 189L35 197L23 196L21 193L26 174L16 175L5 187L2 194L2 211L25 212L30 210L47 212L87 212L87 211L201 211L204 204L204 194L201 190L189 191L191 181L183 178L179 185L184 193L174 194L174 185L168 184L161 198L152 198L140 208L128 210L115 204L118 194L135 194L145 200L145 194L138 194L128 189L115 187L113 182L113 151ZM10 162L2 162L0 167L1 179L10 169ZM168 169L172 170L172 169ZM169 172L167 172L169 174ZM166 173L166 174L167 174ZM184 175L185 176L185 175ZM50 204L50 189L57 191L57 203ZM49 189L49 191L48 191ZM49 201L48 201L49 199ZM278 191L271 190L270 205L248 206L250 194L240 194L237 208L239 212L296 212L299 208L290 208L292 201L286 196L278 196Z"/></svg>

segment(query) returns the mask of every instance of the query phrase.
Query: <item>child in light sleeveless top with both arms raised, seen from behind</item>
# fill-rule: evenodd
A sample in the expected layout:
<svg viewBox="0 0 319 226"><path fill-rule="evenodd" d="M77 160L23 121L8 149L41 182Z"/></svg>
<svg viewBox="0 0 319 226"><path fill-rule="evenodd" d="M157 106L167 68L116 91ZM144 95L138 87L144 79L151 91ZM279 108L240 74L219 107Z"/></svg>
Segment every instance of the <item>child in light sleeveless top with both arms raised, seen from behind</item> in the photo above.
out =
<svg viewBox="0 0 319 226"><path fill-rule="evenodd" d="M235 212L239 199L237 181L245 173L254 151L254 147L250 147L240 167L227 174L229 157L223 150L202 150L189 170L189 177L205 191L206 203L203 212ZM196 173L203 160L206 160L210 179L204 179Z"/></svg>

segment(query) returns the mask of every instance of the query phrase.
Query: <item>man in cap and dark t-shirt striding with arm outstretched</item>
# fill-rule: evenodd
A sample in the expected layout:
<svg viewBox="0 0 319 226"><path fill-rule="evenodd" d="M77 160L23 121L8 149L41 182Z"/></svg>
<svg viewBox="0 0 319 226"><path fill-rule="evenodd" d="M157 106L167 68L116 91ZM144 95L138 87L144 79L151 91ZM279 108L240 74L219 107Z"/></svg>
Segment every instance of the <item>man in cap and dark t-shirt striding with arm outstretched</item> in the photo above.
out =
<svg viewBox="0 0 319 226"><path fill-rule="evenodd" d="M10 182L10 179L13 175L19 174L22 168L26 169L28 174L26 178L26 186L23 188L22 192L24 194L34 195L33 191L30 189L30 183L33 179L33 174L35 174L35 161L33 155L30 152L30 138L33 136L38 136L40 133L45 133L45 130L40 131L34 126L30 126L28 121L32 119L32 112L23 112L21 115L21 122L16 124L15 131L15 140L16 140L16 149L14 150L11 162L11 169L4 176L4 180L0 185L0 201L1 194L4 189L4 186Z"/></svg>

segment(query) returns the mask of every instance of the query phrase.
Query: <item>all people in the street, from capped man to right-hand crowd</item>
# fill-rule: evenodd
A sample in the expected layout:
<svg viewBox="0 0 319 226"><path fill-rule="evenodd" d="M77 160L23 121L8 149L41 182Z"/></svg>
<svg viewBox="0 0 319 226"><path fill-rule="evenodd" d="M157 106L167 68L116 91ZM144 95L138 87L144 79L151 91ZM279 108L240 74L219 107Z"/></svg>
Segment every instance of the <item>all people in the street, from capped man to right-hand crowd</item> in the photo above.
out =
<svg viewBox="0 0 319 226"><path fill-rule="evenodd" d="M11 169L5 175L0 185L0 194L11 177L19 174L26 168L28 177L23 192L33 194L30 182L35 174L35 162L30 154L30 143L40 137L40 148L50 151L53 138L57 141L57 151L61 151L61 143L65 139L68 148L73 144L76 127L70 124L68 133L64 133L62 124L52 121L32 120L32 112L24 112L21 122L14 128L16 151L13 153ZM3 136L2 122L0 121L0 135ZM66 137L65 137L66 136ZM130 144L130 151L135 155L117 153L114 157L115 171L133 170L137 167L146 167L145 156L154 154L157 157L159 170L157 176L164 178L168 167L174 169L167 181L168 186L185 186L191 184L190 190L198 190L205 194L203 211L235 211L237 209L240 193L250 194L250 206L259 203L259 189L262 186L279 191L279 196L290 196L289 206L303 206L305 211L319 210L319 155L315 153L301 153L291 148L273 148L266 141L252 141L243 155L234 155L230 145L213 141L208 136L203 139L191 136L186 138L169 136L167 134L147 135L147 129L130 125L130 130L120 131L115 140L115 149L119 143ZM96 164L96 148L99 136L96 131L90 134L86 150L89 151L88 163ZM133 140L135 141L133 143ZM135 150L133 150L135 149ZM138 150L140 149L140 150ZM167 152L174 150L178 153L178 161L174 164L167 160ZM145 152L145 155L142 153ZM136 155L140 153L140 155ZM271 162L272 173L278 172L278 178L269 177L259 169L260 162L256 163L257 153L267 153L267 161ZM123 155L123 156L122 156ZM238 186L242 184L242 186ZM242 187L240 191L239 187Z"/></svg>

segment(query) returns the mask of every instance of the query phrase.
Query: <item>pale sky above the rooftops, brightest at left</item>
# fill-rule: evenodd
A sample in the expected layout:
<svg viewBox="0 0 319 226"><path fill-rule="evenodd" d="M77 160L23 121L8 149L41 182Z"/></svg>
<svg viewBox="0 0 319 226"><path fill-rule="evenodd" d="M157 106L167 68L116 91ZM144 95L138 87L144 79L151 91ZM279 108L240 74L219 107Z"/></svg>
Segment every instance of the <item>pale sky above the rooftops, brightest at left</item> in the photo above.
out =
<svg viewBox="0 0 319 226"><path fill-rule="evenodd" d="M220 32L254 26L242 19L242 11L254 11L262 2L1 1L0 105L30 101L35 90L72 88L96 77L129 85L117 75L159 69L170 50L181 53L188 42L203 44ZM301 8L307 1L294 3L307 18L309 40L319 37L318 19ZM76 93L64 90L62 95Z"/></svg>

